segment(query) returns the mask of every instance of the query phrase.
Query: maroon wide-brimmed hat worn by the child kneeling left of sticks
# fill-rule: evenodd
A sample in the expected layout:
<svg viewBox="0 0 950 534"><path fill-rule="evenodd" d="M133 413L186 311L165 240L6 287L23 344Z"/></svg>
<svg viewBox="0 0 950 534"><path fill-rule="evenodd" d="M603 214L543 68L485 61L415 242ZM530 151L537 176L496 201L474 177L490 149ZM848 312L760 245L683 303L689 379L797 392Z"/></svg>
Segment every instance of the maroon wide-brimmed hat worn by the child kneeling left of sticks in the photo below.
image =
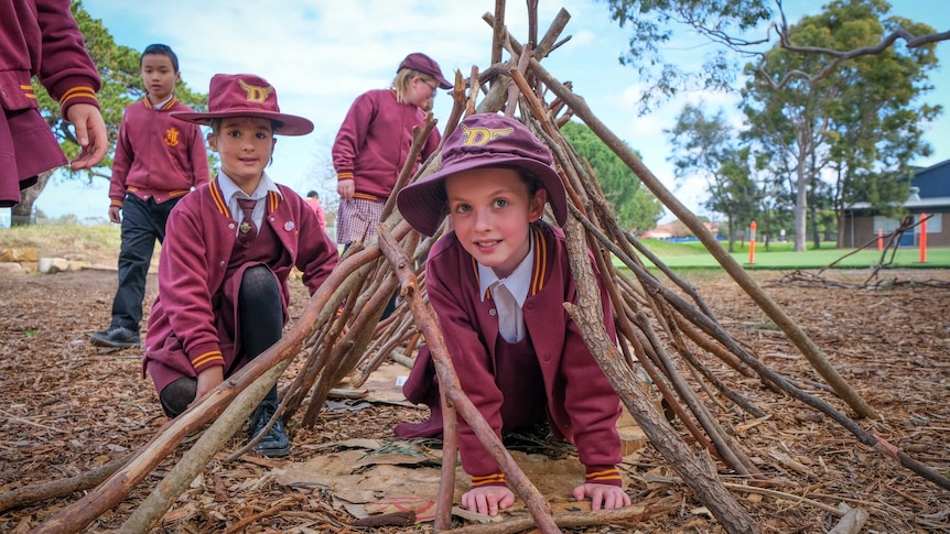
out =
<svg viewBox="0 0 950 534"><path fill-rule="evenodd" d="M306 135L313 122L294 115L281 113L277 89L253 74L216 74L212 77L207 112L174 112L172 117L197 124L210 124L212 119L256 117L269 119L282 135Z"/></svg>

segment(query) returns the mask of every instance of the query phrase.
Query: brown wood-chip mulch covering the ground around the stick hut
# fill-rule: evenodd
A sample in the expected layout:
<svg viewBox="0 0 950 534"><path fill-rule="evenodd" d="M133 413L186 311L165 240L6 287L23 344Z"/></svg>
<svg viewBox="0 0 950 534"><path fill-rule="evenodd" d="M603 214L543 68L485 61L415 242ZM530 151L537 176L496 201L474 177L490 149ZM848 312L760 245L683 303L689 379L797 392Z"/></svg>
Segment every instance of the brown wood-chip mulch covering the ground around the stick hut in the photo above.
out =
<svg viewBox="0 0 950 534"><path fill-rule="evenodd" d="M827 275L844 284L814 279L777 283L781 273L755 276L882 415L857 423L950 476L950 272L888 271L881 277L886 283L870 288L857 287L864 272ZM88 344L90 333L108 326L115 279L115 272L97 270L0 276L0 493L88 472L141 448L165 423L151 381L142 378L141 350L105 350ZM848 412L782 333L724 274L690 280L720 322L759 359ZM150 276L147 303L154 291ZM292 317L304 304L305 292L295 288ZM734 372L712 356L700 358L767 413L754 418L727 400L704 397L775 482L770 494L734 490L763 532L825 533L839 521L840 512L833 509L846 508L870 514L863 532L950 532L950 491L859 444L803 403ZM291 378L284 377L282 383ZM227 453L245 442L246 431L239 429L155 532L432 532L431 522L357 527L356 517L328 487L280 481L280 468L337 454L354 439L390 443L398 422L424 416L412 407L364 402L359 410L325 411L316 426L302 428L296 414L289 424L294 444L289 458L245 455L225 461ZM685 436L682 425L676 426ZM536 453L554 449L540 444ZM182 450L87 531L121 526ZM629 456L622 469L634 502L650 512L570 532L721 532L649 445ZM728 475L723 480L731 488L742 482ZM384 490L378 493L376 498L385 497ZM0 512L0 532L28 532L79 497Z"/></svg>

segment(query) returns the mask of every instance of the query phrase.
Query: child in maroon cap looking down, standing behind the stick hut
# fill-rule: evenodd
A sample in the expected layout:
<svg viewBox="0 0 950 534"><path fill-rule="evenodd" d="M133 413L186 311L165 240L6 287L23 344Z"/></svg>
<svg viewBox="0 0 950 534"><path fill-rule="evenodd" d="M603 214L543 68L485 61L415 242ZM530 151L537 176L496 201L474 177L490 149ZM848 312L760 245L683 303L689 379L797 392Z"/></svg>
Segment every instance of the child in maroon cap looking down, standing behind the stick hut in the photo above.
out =
<svg viewBox="0 0 950 534"><path fill-rule="evenodd" d="M424 124L435 90L451 87L438 63L414 53L399 64L389 89L366 91L353 102L332 151L339 193L337 243L349 246L374 236L409 155L412 128ZM415 165L435 152L441 139L433 130Z"/></svg>

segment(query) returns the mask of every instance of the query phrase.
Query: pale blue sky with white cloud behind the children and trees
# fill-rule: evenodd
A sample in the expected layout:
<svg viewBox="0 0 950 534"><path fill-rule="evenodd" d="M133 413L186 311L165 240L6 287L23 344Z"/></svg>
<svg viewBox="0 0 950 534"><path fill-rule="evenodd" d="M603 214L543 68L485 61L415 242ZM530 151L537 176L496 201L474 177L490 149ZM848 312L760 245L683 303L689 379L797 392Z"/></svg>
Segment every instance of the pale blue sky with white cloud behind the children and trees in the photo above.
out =
<svg viewBox="0 0 950 534"><path fill-rule="evenodd" d="M950 30L946 0L902 0L893 2L893 14L925 21L938 31ZM568 6L569 4L569 6ZM817 13L823 2L802 0L791 6L789 23L802 13ZM253 73L277 88L281 109L311 119L316 129L302 138L279 138L274 163L268 173L299 193L321 192L321 198L336 195L330 167L333 137L350 102L360 92L388 87L406 54L423 52L442 66L452 79L456 69L467 76L473 65L488 66L492 29L482 20L494 10L493 0L274 0L234 2L230 0L165 0L163 2L116 2L84 0L83 6L101 19L119 44L142 50L165 43L179 54L182 79L193 89L207 91L216 73ZM572 40L554 51L542 65L558 79L573 81L593 112L617 135L640 151L646 165L680 199L695 209L703 185L677 188L672 166L667 161L670 145L663 129L687 102L704 102L706 109L732 110L723 95L683 94L656 111L638 116L637 100L644 90L637 73L620 66L617 57L626 50L628 30L609 20L604 2L574 0L542 1L539 25L543 33L558 10L571 13L564 35ZM789 9L787 7L787 9ZM798 11L801 10L801 11ZM523 2L508 2L509 31L526 41L527 15ZM685 32L683 32L685 33ZM773 34L774 36L774 34ZM706 45L683 36L666 51L684 66L699 63ZM506 56L507 57L507 56ZM933 74L935 89L925 101L948 106L950 94L950 43L938 45L944 65ZM447 120L451 98L436 98L433 113L440 123ZM927 166L950 159L950 110L930 124L926 139L933 155L915 162ZM327 179L330 177L330 179ZM93 186L79 181L54 178L36 201L50 217L74 214L80 220L107 220L108 184L98 178Z"/></svg>

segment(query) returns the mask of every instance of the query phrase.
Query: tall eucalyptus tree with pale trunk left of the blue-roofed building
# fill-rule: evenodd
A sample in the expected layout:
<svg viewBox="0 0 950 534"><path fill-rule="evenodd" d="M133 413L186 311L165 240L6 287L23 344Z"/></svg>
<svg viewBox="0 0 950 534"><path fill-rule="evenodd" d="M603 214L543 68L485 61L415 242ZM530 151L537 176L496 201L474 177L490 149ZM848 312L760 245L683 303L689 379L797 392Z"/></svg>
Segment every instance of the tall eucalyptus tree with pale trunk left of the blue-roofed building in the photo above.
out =
<svg viewBox="0 0 950 534"><path fill-rule="evenodd" d="M879 42L890 28L929 28L886 18L888 9L884 1L836 0L823 13L791 26L788 39L803 47L850 50ZM886 48L841 63L818 79L764 76L764 65L775 73L820 68L820 56L781 46L768 51L758 64L747 65L743 91L747 135L774 168L791 171L790 176L777 176L777 181L790 183L795 195L796 251L806 249L808 193L821 189L812 184L821 179L832 161L844 171L853 167L842 174L853 176L862 168L887 172L895 165L906 167L919 153L907 148L922 150L920 124L940 108L915 107L913 102L930 89L927 70L937 64L932 48L932 44L903 51Z"/></svg>

